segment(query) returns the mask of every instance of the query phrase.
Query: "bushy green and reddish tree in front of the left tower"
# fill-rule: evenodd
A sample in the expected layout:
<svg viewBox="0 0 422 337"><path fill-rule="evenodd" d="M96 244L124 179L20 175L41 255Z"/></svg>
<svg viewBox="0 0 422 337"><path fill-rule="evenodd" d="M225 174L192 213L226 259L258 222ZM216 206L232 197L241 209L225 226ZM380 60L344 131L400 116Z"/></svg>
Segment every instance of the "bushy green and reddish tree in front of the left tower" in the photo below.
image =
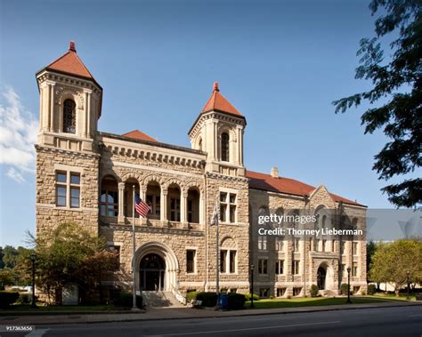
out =
<svg viewBox="0 0 422 337"><path fill-rule="evenodd" d="M37 253L37 285L54 301L69 284L95 293L104 273L116 266L116 253L106 249L104 240L75 223L63 223L32 241ZM30 273L29 259L22 261L20 270Z"/></svg>

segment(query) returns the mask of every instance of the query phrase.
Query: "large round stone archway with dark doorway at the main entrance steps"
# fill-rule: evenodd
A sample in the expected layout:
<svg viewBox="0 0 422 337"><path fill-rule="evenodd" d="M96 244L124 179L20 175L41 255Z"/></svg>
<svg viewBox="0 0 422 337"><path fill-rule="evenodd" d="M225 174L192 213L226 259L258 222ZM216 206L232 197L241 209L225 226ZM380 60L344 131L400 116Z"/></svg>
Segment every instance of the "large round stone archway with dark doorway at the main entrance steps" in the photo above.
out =
<svg viewBox="0 0 422 337"><path fill-rule="evenodd" d="M176 285L179 262L169 246L150 242L136 250L134 272L136 290L155 290L158 285L160 290L171 291Z"/></svg>

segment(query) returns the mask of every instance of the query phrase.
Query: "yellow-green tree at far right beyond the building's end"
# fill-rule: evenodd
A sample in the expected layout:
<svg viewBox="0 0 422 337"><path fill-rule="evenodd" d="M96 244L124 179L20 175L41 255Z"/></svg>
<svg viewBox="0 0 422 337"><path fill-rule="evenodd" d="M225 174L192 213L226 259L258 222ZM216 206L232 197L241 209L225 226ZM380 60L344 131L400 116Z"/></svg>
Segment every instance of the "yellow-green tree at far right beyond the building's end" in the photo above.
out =
<svg viewBox="0 0 422 337"><path fill-rule="evenodd" d="M401 239L388 244L379 244L369 270L369 277L377 283L389 283L399 296L400 289L407 283L422 280L422 242Z"/></svg>

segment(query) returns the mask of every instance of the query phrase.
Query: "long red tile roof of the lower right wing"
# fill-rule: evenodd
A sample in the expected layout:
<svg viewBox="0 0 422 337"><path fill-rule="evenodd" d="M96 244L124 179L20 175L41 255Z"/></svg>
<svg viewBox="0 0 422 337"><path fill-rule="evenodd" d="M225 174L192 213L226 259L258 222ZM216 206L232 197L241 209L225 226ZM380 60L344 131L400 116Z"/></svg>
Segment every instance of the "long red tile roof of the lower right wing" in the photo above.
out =
<svg viewBox="0 0 422 337"><path fill-rule="evenodd" d="M304 182L284 177L273 178L270 174L247 171L246 176L249 178L250 189L262 189L296 196L309 196L315 189L315 187L305 184ZM361 205L352 200L346 199L345 197L340 197L332 193L329 193L329 195L337 202L341 201L345 204Z"/></svg>

